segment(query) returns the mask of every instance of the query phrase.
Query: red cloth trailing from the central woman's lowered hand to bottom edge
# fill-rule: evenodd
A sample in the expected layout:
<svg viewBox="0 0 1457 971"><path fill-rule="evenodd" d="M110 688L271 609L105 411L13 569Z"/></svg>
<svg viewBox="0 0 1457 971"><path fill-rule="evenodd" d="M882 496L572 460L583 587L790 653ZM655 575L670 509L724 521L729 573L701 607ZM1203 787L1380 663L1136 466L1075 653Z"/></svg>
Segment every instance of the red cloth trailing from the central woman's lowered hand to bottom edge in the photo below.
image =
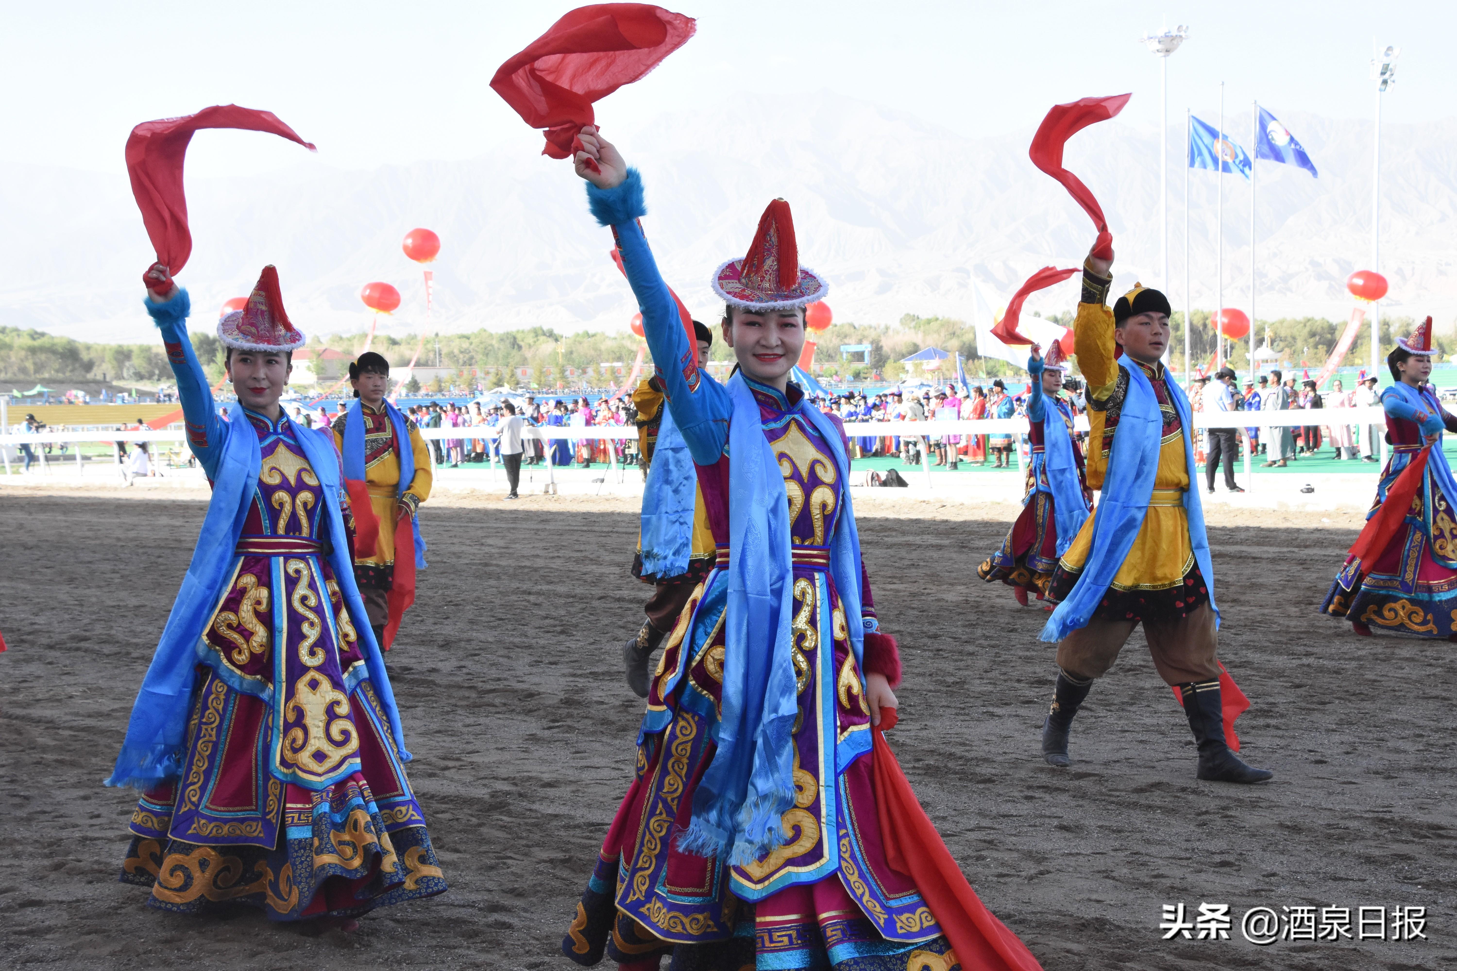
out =
<svg viewBox="0 0 1457 971"><path fill-rule="evenodd" d="M997 920L966 882L935 824L927 818L911 783L900 772L890 745L889 729L896 726L896 709L880 709L880 724L871 729L871 780L876 811L880 814L880 840L886 862L915 881L941 933L951 942L963 968L978 971L1042 971L1017 935Z"/></svg>

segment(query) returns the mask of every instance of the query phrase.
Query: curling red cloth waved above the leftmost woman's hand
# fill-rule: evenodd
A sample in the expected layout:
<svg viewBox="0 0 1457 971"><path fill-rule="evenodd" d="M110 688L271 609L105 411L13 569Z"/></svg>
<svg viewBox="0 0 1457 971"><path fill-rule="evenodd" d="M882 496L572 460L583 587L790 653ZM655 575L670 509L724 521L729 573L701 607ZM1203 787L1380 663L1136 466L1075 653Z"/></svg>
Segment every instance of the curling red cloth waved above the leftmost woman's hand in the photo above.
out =
<svg viewBox="0 0 1457 971"><path fill-rule="evenodd" d="M176 277L192 255L192 233L186 224L186 194L182 191L182 163L186 146L198 128L239 128L243 131L267 131L297 141L309 151L313 144L305 141L288 125L278 121L271 111L255 111L237 105L214 105L195 115L144 121L131 130L127 138L127 175L131 176L131 194L141 210L141 221L157 252L157 262Z"/></svg>

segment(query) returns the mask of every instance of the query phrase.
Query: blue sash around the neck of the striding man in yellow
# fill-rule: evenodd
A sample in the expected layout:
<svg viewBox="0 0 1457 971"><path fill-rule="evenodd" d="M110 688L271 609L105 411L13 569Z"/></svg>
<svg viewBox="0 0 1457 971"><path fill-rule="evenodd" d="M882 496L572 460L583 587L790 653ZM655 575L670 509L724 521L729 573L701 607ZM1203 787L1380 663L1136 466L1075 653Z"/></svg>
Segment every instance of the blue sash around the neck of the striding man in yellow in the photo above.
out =
<svg viewBox="0 0 1457 971"><path fill-rule="evenodd" d="M1163 413L1154 386L1132 358L1126 354L1118 360L1128 371L1128 396L1113 434L1113 445L1107 457L1107 475L1103 477L1103 496L1093 514L1093 549L1083 565L1083 575L1072 587L1068 598L1058 604L1042 629L1042 639L1056 642L1071 632L1085 627L1093 611L1103 601L1109 584L1128 559L1138 531L1148 514L1148 499L1154 495L1154 477L1158 473L1158 451L1163 444ZM1199 470L1193 463L1193 435L1189 416L1189 399L1183 389L1166 381L1173 399L1179 424L1183 427L1185 464L1189 469L1190 488L1185 492L1185 511L1189 517L1189 544L1195 562L1203 574L1209 591L1209 609L1214 610L1214 626L1220 627L1220 609L1214 603L1214 565L1209 562L1209 537L1203 528L1203 505L1199 502ZM1091 447L1097 447L1096 443ZM1061 537L1059 537L1061 539Z"/></svg>

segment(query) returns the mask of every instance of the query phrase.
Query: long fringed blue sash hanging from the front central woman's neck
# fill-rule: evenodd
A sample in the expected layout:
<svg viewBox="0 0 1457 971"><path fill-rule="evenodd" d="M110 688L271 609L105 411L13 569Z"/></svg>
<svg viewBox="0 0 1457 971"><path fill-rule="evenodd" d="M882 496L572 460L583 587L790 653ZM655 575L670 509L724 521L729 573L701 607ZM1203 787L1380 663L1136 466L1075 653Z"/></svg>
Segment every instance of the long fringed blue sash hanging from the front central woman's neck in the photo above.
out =
<svg viewBox="0 0 1457 971"><path fill-rule="evenodd" d="M798 713L791 655L794 568L784 476L763 434L759 403L742 374L728 380L728 600L724 616L724 680L718 750L694 793L694 814L679 849L727 856L747 865L784 844L781 818L794 806L794 740ZM844 512L830 540L830 576L845 616L855 662L864 654L860 619L860 537L849 501L849 460L839 432L817 408L800 400L829 444ZM855 732L858 737L868 732ZM868 740L867 745L868 745ZM848 757L838 753L842 770Z"/></svg>

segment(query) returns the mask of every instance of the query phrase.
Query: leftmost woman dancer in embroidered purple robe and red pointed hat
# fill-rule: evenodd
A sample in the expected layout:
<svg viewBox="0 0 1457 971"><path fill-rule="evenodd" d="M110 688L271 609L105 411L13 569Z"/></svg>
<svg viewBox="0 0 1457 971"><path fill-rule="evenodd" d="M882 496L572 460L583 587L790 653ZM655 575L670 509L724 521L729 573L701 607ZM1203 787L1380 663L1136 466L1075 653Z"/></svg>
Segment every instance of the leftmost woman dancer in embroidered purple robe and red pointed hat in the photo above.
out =
<svg viewBox="0 0 1457 971"><path fill-rule="evenodd" d="M267 266L217 325L240 405L223 421L186 291L160 263L144 282L213 498L106 780L143 790L121 879L160 910L251 904L351 929L446 884L354 584L339 456L278 408L305 339Z"/></svg>

